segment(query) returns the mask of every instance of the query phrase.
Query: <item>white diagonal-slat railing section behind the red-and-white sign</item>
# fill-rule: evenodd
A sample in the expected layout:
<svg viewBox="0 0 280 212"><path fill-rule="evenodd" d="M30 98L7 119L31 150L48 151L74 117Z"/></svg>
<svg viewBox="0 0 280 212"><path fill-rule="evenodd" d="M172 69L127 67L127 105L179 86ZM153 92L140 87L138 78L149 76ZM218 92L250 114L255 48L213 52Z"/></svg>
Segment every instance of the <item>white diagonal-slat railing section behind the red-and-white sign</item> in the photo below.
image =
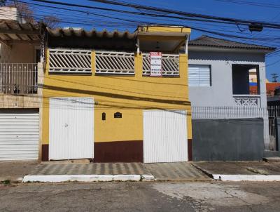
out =
<svg viewBox="0 0 280 212"><path fill-rule="evenodd" d="M151 74L151 62L148 53L143 54L143 75ZM179 55L162 54L162 76L179 76Z"/></svg>

